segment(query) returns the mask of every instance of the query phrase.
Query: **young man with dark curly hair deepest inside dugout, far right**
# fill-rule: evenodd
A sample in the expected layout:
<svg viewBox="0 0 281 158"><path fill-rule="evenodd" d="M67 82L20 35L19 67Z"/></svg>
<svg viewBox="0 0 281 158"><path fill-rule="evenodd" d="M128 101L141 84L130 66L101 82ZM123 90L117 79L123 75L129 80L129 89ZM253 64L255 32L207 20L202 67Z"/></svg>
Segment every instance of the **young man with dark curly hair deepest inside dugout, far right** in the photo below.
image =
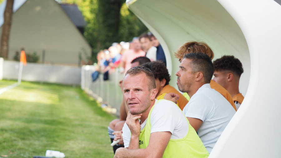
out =
<svg viewBox="0 0 281 158"><path fill-rule="evenodd" d="M234 56L223 56L215 60L213 64L213 80L230 93L238 110L244 100L244 96L239 92L239 80L244 72L242 63Z"/></svg>

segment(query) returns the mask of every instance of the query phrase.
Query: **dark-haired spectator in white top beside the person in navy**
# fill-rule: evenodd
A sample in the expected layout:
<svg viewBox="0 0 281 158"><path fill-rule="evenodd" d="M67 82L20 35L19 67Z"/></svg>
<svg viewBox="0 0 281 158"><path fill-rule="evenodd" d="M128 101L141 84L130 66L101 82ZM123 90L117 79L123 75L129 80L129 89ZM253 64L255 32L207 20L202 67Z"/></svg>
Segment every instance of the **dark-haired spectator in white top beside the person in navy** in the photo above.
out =
<svg viewBox="0 0 281 158"><path fill-rule="evenodd" d="M141 41L141 47L146 52L145 57L148 57L151 61L156 61L157 48L152 45L148 33L143 33L139 37Z"/></svg>

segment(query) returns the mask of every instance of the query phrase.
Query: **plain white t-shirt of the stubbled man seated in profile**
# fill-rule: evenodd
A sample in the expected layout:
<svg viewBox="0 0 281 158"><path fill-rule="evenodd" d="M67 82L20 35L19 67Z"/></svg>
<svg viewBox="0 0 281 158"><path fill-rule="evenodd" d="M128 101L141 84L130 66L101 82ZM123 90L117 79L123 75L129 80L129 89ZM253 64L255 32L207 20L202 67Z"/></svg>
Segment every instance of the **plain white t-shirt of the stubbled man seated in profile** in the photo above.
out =
<svg viewBox="0 0 281 158"><path fill-rule="evenodd" d="M224 96L205 84L190 98L183 112L186 117L203 121L197 132L210 153L236 111Z"/></svg>

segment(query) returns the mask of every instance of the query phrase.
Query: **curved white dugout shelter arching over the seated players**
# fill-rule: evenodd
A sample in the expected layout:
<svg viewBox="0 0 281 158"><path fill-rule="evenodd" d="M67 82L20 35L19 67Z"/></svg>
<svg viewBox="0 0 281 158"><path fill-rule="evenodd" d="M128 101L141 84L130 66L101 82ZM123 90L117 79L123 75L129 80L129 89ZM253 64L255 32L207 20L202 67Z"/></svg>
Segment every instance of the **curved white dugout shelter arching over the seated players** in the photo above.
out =
<svg viewBox="0 0 281 158"><path fill-rule="evenodd" d="M281 157L281 1L127 0L127 6L160 41L171 75L173 53L188 41L206 42L214 59L234 55L243 64L239 89L245 99L210 158Z"/></svg>

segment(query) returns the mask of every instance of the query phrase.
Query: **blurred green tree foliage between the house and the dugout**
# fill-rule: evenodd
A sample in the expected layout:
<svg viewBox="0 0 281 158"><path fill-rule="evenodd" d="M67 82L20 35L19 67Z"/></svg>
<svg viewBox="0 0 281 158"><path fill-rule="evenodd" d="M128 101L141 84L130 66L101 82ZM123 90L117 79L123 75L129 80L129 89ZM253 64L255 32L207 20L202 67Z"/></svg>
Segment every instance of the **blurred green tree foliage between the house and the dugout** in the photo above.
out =
<svg viewBox="0 0 281 158"><path fill-rule="evenodd" d="M107 49L113 42L131 41L148 29L126 6L126 0L57 0L61 3L77 4L87 26L84 37L96 54Z"/></svg>

